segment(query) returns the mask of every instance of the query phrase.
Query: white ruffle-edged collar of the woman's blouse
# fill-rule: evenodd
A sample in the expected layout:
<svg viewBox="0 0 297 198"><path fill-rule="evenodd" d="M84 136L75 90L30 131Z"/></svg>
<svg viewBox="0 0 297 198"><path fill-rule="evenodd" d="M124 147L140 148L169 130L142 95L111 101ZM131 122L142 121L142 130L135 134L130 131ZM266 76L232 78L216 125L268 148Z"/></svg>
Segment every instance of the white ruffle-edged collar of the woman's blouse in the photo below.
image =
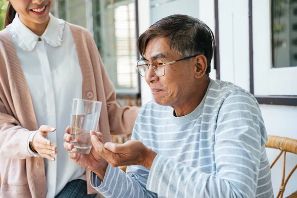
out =
<svg viewBox="0 0 297 198"><path fill-rule="evenodd" d="M50 46L58 47L62 45L64 27L64 20L55 18L49 13L49 24L41 38ZM17 13L12 23L6 28L22 50L32 51L37 45L39 37L21 22Z"/></svg>

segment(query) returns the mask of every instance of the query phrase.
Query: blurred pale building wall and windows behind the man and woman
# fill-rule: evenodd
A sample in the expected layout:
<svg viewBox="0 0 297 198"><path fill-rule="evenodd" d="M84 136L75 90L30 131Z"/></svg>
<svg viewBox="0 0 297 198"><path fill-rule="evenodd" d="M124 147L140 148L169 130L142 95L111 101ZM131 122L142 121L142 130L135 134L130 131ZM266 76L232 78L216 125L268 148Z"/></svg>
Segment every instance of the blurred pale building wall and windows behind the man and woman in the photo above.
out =
<svg viewBox="0 0 297 198"><path fill-rule="evenodd" d="M0 0L0 29L6 6ZM51 13L92 33L118 103L137 106L153 99L135 70L139 35L171 14L201 19L216 39L210 77L253 94L269 135L297 139L297 0L55 0ZM113 142L129 139L113 137ZM266 150L271 163L278 151ZM291 170L297 156L288 153L287 159ZM280 160L272 169L275 195L281 170ZM296 183L297 172L284 196L297 190Z"/></svg>

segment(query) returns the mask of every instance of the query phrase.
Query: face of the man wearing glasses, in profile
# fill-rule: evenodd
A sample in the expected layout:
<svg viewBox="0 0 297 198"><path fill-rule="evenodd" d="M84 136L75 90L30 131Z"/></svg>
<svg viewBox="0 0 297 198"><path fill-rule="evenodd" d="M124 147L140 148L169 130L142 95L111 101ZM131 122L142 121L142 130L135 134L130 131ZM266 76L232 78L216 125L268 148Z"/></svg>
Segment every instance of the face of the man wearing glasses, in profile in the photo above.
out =
<svg viewBox="0 0 297 198"><path fill-rule="evenodd" d="M181 55L169 47L166 38L158 37L150 40L144 58L151 62L160 57L164 63L181 59ZM178 61L165 66L165 75L156 76L149 66L146 82L151 89L155 102L160 105L179 106L191 96L195 86L195 64L193 58L189 61Z"/></svg>

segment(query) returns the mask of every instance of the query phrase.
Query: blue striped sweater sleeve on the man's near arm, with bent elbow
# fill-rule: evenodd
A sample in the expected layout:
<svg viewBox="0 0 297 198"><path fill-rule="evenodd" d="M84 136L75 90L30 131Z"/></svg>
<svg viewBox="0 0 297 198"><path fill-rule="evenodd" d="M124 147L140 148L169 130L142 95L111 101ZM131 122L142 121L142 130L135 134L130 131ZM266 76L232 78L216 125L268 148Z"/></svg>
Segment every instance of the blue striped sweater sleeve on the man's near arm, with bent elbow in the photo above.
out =
<svg viewBox="0 0 297 198"><path fill-rule="evenodd" d="M254 198L266 133L253 99L234 92L222 103L215 131L213 173L158 154L147 189L167 198ZM205 160L205 159L201 159ZM269 175L267 169L265 175Z"/></svg>

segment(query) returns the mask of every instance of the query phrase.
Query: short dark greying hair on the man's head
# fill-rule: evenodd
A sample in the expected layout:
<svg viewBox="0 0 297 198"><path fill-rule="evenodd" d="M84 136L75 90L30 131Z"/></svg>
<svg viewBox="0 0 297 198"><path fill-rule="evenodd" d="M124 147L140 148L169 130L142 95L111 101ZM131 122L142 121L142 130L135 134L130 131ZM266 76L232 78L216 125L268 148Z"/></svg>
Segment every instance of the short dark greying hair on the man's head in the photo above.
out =
<svg viewBox="0 0 297 198"><path fill-rule="evenodd" d="M155 22L137 40L137 47L142 56L146 52L148 41L156 37L168 38L170 48L182 58L203 54L207 59L206 73L210 72L214 36L201 20L175 14Z"/></svg>

